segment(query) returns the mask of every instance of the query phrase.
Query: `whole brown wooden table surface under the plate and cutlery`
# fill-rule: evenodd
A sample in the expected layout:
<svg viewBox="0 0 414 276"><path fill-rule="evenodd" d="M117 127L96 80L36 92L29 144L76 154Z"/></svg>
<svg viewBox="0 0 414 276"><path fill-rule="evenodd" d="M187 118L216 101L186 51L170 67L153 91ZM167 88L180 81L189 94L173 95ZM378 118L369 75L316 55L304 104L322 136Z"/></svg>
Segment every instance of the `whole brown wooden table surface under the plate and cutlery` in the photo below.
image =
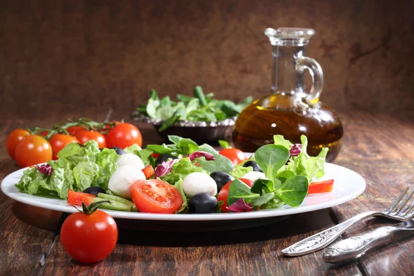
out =
<svg viewBox="0 0 414 276"><path fill-rule="evenodd" d="M66 215L20 204L0 193L0 275L413 275L413 240L336 266L324 263L321 252L284 257L280 251L353 215L382 210L402 188L413 183L413 113L391 116L353 112L341 117L344 147L335 164L366 179L367 188L357 199L244 230L157 233L120 228L110 256L87 266L68 257L59 242L59 228ZM4 145L8 133L17 126L47 126L52 122L3 118L0 144ZM159 141L152 129L140 128L147 143ZM2 146L0 179L17 169ZM370 219L343 237L391 222Z"/></svg>

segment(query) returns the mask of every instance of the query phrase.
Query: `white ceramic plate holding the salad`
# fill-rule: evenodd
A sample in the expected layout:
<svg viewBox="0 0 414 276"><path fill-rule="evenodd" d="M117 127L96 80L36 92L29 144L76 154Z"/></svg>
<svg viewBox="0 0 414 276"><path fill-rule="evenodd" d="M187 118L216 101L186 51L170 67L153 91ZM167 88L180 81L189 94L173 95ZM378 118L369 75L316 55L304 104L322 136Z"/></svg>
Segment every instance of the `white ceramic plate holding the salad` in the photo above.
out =
<svg viewBox="0 0 414 276"><path fill-rule="evenodd" d="M65 213L75 213L77 210L73 206L68 206L66 200L50 199L21 193L14 184L17 184L23 175L23 168L8 175L1 182L1 190L8 197L21 201L25 204L57 210ZM354 199L364 192L366 183L361 175L357 172L337 166L326 164L326 173L319 180L335 179L334 188L331 193L320 193L308 195L301 206L296 208L284 207L273 210L260 210L246 213L219 213L219 214L152 214L152 213L129 213L122 211L105 210L109 215L121 219L140 219L150 221L228 221L234 219L261 219L270 217L279 217L293 215L298 213L311 212L342 204Z"/></svg>

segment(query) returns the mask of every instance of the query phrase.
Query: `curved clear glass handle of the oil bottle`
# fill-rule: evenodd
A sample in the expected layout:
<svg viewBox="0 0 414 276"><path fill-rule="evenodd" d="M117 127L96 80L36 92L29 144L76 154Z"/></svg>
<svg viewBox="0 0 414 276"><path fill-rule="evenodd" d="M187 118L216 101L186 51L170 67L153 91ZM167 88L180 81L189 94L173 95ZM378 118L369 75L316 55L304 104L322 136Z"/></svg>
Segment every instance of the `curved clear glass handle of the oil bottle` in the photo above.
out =
<svg viewBox="0 0 414 276"><path fill-rule="evenodd" d="M324 86L324 72L322 72L321 66L315 59L311 59L310 57L299 57L297 59L296 70L302 73L305 69L308 69L312 77L312 88L311 92L309 92L306 97L306 103L313 106L319 101Z"/></svg>

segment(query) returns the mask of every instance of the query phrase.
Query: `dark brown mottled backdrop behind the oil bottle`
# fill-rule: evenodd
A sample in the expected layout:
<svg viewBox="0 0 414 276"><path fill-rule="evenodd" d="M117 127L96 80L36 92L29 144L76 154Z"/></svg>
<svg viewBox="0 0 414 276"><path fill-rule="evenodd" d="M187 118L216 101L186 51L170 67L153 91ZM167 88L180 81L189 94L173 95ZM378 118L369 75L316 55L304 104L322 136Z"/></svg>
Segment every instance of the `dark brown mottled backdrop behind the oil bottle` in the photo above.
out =
<svg viewBox="0 0 414 276"><path fill-rule="evenodd" d="M23 122L109 108L126 118L151 88L259 97L270 87L264 29L281 26L316 30L308 56L335 110L393 114L414 103L410 0L0 3L0 115Z"/></svg>

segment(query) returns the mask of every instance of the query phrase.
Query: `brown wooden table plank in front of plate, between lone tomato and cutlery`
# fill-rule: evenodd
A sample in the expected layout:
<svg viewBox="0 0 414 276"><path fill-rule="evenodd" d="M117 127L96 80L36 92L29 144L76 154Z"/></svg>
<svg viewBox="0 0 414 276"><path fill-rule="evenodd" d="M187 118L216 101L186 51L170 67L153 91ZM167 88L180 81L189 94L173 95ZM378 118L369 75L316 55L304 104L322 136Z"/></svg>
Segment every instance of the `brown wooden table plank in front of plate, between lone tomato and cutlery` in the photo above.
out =
<svg viewBox="0 0 414 276"><path fill-rule="evenodd" d="M287 258L280 250L333 225L330 209L295 215L276 224L206 233L119 229L112 254L98 264L74 266L55 241L43 275L359 275L355 264L325 264L320 253Z"/></svg>

